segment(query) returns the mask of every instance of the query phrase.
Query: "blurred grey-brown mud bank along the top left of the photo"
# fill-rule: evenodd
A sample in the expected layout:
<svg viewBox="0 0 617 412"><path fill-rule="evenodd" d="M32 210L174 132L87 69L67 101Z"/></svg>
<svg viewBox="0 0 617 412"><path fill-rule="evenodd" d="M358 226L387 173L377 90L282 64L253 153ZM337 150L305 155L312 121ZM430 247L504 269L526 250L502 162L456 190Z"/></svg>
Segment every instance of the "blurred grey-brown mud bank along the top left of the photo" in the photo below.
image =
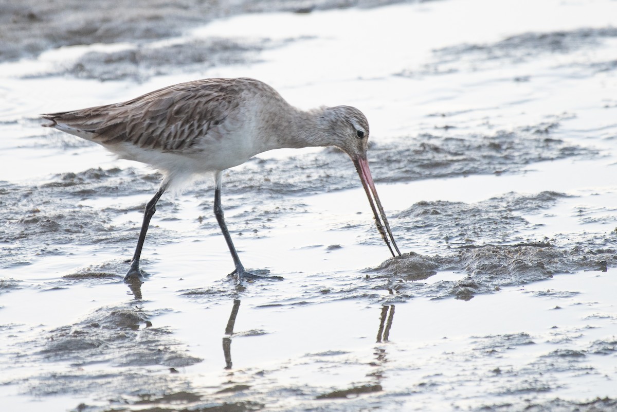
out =
<svg viewBox="0 0 617 412"><path fill-rule="evenodd" d="M188 28L204 25L212 19L255 12L300 12L341 7L375 7L401 0L268 0L251 2L210 2L199 0L88 1L25 0L19 4L0 4L0 62L36 57L48 49L77 44L135 42L145 44L162 38L179 36ZM203 48L207 51L207 47ZM135 59L141 56L141 47ZM189 49L183 53L190 53ZM122 54L116 59L130 59ZM139 57L138 57L139 56ZM195 58L186 56L189 59ZM114 59L91 56L90 59ZM93 66L94 67L94 66ZM75 67L77 74L86 75ZM83 70L87 70L84 68ZM103 73L104 74L104 73Z"/></svg>

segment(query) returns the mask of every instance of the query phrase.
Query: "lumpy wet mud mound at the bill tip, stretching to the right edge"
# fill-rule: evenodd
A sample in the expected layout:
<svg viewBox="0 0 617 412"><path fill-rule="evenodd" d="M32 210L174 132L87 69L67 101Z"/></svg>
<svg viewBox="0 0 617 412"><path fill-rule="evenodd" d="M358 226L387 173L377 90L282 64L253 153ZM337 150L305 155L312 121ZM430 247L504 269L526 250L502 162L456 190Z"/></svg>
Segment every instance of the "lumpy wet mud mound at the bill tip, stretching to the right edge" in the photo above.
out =
<svg viewBox="0 0 617 412"><path fill-rule="evenodd" d="M597 270L602 265L617 265L613 249L592 250L581 247L563 249L547 243L528 245L484 245L459 249L449 255L423 256L404 253L390 258L378 267L367 270L375 273L375 281L391 278L403 281L428 279L438 271L455 271L465 276L458 281L398 283L399 294L413 291L429 297L455 297L469 300L476 294L494 292L500 287L522 286L552 278L557 273ZM388 286L391 289L391 286Z"/></svg>

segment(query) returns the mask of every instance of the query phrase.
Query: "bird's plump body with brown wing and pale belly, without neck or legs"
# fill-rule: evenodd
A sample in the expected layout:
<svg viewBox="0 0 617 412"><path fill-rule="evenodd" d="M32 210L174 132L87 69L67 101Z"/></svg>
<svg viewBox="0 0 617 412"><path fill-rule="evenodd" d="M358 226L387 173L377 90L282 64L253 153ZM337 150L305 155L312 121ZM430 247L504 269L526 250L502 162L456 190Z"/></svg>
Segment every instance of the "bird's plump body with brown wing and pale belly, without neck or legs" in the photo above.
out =
<svg viewBox="0 0 617 412"><path fill-rule="evenodd" d="M101 144L123 159L164 173L178 168L202 173L239 165L271 148L257 142L264 108L271 106L291 108L261 81L213 78L42 117L51 121L44 126Z"/></svg>

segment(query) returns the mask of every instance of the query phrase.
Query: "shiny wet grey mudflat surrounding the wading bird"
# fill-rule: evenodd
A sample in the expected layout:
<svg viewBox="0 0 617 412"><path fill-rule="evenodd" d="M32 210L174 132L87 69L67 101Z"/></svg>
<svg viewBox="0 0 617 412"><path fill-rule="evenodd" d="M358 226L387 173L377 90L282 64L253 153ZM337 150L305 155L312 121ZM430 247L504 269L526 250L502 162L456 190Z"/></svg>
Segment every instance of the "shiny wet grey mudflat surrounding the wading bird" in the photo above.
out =
<svg viewBox="0 0 617 412"><path fill-rule="evenodd" d="M31 33L0 54L7 410L617 410L615 2L63 4L2 6ZM280 150L223 205L284 281L226 276L205 179L162 198L151 277L123 284L159 176L36 115L209 76L363 110L404 256L346 155Z"/></svg>

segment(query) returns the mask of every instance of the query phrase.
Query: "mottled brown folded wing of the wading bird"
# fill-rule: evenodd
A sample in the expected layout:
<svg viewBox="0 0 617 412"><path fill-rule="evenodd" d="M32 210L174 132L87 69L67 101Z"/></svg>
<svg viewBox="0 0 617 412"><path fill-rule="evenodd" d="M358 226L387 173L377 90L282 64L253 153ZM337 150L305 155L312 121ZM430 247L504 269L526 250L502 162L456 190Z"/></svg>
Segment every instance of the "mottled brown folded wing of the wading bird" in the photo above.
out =
<svg viewBox="0 0 617 412"><path fill-rule="evenodd" d="M130 101L44 118L85 131L103 145L130 142L147 149L179 151L193 147L238 106L241 89L233 83L201 80L175 84Z"/></svg>

